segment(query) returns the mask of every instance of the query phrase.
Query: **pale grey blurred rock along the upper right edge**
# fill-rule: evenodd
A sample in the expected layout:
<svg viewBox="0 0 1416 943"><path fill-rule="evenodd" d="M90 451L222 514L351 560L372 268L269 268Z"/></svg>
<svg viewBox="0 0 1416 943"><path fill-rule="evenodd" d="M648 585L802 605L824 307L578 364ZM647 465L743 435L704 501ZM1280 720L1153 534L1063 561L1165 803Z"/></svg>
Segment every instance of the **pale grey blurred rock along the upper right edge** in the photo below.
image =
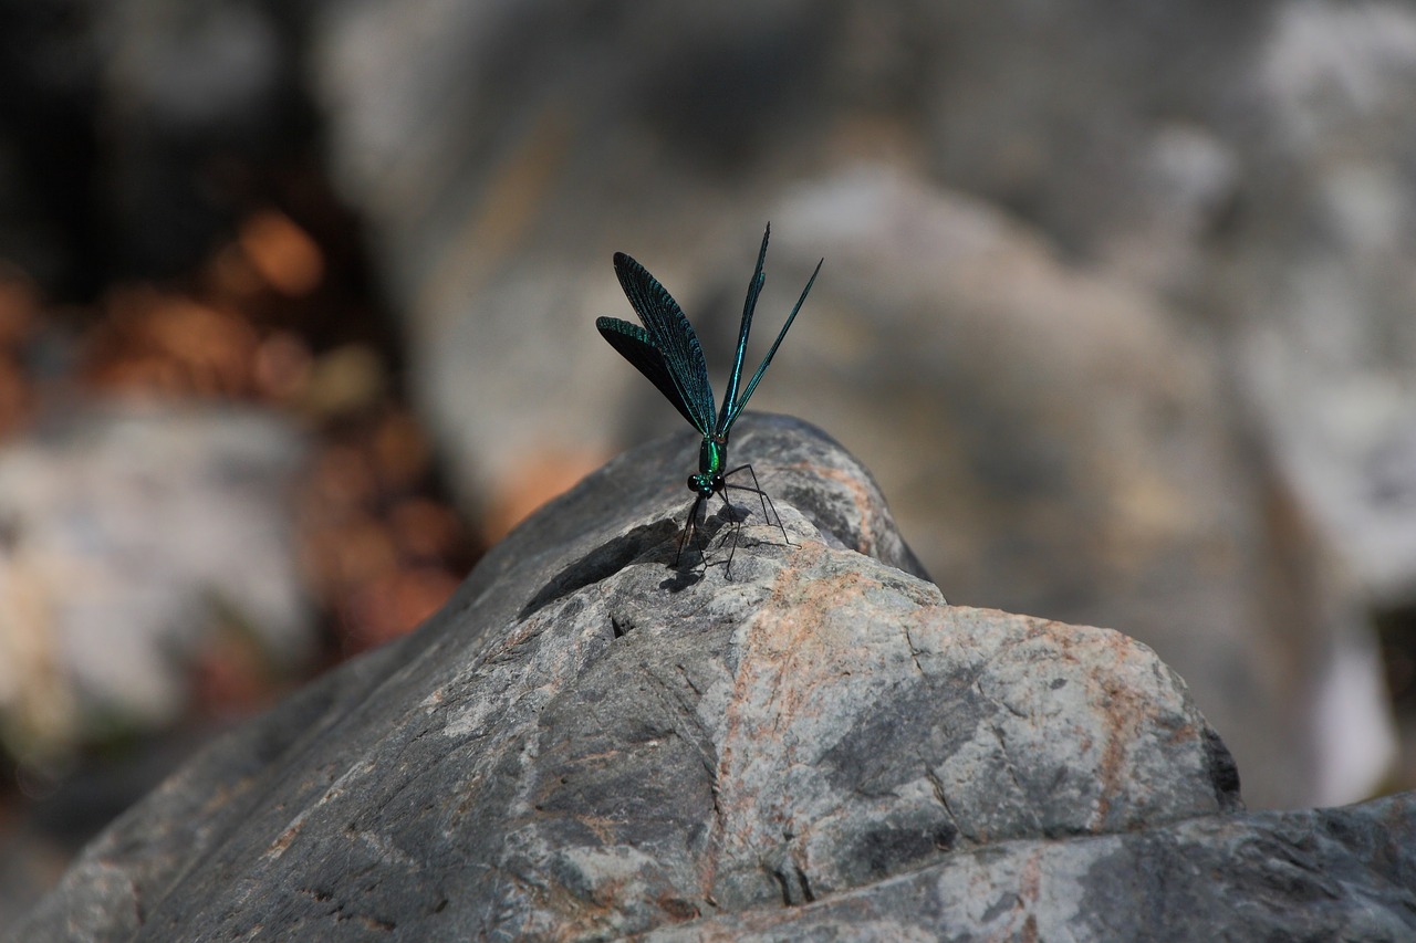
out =
<svg viewBox="0 0 1416 943"><path fill-rule="evenodd" d="M1349 590L1416 598L1416 10L1291 3L1252 64L1263 152L1231 261L1247 399Z"/></svg>

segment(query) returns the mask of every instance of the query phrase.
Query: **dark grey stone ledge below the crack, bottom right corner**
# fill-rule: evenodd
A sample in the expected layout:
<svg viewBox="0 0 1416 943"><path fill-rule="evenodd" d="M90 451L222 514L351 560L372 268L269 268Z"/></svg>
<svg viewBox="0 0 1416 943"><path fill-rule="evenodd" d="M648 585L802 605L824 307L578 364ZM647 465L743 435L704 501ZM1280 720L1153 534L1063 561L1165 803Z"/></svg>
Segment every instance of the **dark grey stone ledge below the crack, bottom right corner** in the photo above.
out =
<svg viewBox="0 0 1416 943"><path fill-rule="evenodd" d="M1399 940L1416 933L1416 801L1010 841L797 909L650 940Z"/></svg>

